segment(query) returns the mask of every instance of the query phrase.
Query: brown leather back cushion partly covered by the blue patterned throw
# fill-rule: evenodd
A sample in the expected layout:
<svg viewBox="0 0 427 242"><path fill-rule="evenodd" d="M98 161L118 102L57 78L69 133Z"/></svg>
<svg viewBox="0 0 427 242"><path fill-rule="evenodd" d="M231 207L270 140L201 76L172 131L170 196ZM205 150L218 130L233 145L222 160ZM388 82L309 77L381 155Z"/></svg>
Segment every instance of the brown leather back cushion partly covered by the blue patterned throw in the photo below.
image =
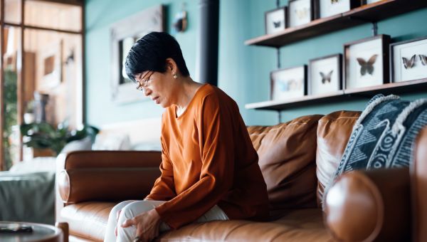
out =
<svg viewBox="0 0 427 242"><path fill-rule="evenodd" d="M317 126L317 204L322 203L326 184L337 171L342 153L360 112L338 111L325 115Z"/></svg>

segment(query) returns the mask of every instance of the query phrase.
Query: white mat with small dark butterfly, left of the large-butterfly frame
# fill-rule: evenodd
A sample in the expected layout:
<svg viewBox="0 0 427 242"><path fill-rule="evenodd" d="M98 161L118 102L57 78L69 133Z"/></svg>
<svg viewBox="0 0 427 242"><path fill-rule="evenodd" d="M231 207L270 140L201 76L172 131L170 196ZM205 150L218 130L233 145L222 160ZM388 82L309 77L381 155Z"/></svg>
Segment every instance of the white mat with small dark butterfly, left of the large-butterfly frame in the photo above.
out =
<svg viewBox="0 0 427 242"><path fill-rule="evenodd" d="M310 95L332 93L339 90L339 57L332 56L310 63ZM330 82L322 83L320 72L327 75L332 70Z"/></svg>

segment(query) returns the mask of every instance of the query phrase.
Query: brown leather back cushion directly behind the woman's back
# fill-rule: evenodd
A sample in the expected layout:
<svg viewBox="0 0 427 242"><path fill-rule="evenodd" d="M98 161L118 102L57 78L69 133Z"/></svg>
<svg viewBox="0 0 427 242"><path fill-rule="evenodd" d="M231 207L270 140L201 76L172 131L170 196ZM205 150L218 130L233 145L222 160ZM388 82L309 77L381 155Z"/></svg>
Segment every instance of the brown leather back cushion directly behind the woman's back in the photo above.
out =
<svg viewBox="0 0 427 242"><path fill-rule="evenodd" d="M280 215L280 209L316 206L316 130L320 117L310 115L280 125L248 127L273 217Z"/></svg>

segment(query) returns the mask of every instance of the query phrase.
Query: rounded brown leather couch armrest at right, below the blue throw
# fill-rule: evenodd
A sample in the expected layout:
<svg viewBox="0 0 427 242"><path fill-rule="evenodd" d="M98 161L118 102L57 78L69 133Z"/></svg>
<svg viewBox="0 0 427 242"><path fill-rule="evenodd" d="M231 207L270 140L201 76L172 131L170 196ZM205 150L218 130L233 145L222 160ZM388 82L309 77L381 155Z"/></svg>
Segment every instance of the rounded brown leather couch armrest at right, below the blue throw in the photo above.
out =
<svg viewBox="0 0 427 242"><path fill-rule="evenodd" d="M410 241L408 168L355 171L326 196L325 223L339 241Z"/></svg>

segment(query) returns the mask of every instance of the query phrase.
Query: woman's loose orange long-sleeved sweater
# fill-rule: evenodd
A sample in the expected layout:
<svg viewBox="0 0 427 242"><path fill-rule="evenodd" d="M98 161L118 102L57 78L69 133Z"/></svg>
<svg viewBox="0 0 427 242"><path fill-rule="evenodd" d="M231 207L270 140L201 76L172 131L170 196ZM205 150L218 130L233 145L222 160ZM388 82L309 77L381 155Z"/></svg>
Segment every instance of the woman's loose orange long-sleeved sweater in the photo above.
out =
<svg viewBox="0 0 427 242"><path fill-rule="evenodd" d="M179 117L175 105L167 107L160 170L147 198L167 201L156 210L172 228L196 221L216 204L230 219L268 217L258 154L236 102L219 88L201 86Z"/></svg>

